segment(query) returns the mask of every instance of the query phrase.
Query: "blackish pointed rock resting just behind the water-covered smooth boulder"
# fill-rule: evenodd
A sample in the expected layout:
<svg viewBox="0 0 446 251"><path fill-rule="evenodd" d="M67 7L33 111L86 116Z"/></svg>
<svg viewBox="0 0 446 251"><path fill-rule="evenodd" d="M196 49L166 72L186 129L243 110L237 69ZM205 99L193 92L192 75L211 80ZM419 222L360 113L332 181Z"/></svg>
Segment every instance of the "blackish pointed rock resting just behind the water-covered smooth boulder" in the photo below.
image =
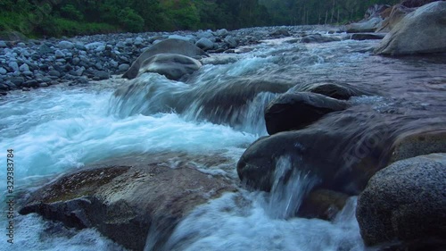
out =
<svg viewBox="0 0 446 251"><path fill-rule="evenodd" d="M273 100L265 111L270 135L285 130L299 130L318 121L327 113L341 111L347 104L341 100L311 92L285 93Z"/></svg>

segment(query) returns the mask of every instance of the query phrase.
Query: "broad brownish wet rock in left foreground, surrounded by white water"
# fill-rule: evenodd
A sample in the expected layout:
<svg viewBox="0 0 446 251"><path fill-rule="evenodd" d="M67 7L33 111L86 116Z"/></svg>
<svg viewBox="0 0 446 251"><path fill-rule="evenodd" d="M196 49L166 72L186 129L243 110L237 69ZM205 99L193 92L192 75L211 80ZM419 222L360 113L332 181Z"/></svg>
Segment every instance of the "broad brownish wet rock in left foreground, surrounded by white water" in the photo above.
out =
<svg viewBox="0 0 446 251"><path fill-rule="evenodd" d="M146 239L153 238L157 250L196 205L235 189L191 166L205 159L182 159L179 167L169 167L169 156L103 163L39 188L20 213L39 213L78 229L95 228L132 250L143 250Z"/></svg>

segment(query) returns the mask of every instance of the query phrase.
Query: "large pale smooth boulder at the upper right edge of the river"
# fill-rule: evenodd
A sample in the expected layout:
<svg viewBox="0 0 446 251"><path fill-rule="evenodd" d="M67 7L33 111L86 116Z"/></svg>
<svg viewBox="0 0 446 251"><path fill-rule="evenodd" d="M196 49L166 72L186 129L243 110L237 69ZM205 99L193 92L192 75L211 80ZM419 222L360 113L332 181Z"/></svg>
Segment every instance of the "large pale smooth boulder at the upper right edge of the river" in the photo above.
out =
<svg viewBox="0 0 446 251"><path fill-rule="evenodd" d="M376 47L376 54L446 52L446 2L425 4L407 14Z"/></svg>

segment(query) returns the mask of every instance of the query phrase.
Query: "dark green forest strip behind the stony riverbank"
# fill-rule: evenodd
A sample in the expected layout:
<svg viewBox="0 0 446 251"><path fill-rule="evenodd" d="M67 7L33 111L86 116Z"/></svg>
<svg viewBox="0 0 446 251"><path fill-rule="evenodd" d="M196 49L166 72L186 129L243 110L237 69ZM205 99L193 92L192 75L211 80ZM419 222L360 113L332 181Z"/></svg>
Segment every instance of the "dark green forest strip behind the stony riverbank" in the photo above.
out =
<svg viewBox="0 0 446 251"><path fill-rule="evenodd" d="M2 0L0 31L28 37L343 24L398 0Z"/></svg>

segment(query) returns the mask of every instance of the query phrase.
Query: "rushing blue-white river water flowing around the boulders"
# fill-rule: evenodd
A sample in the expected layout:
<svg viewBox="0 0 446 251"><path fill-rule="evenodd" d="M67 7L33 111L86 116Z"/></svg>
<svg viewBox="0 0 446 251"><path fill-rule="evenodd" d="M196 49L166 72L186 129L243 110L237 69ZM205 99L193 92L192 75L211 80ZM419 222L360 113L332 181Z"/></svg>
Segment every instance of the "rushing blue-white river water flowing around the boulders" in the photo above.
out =
<svg viewBox="0 0 446 251"><path fill-rule="evenodd" d="M145 73L131 81L12 92L0 97L0 160L6 163L6 149L14 149L16 193L111 157L163 153L224 156L230 163L209 163L200 171L237 182L238 158L267 135L263 111L268 102L295 85L318 82L348 83L373 93L352 98L356 106L346 113L379 113L392 133L444 128L444 55L370 54L377 43L265 41L234 55L235 63L203 66L185 82ZM283 173L290 168L283 156L269 194L242 189L199 206L178 224L165 249L363 250L355 197L332 222L294 217L318 177L293 172L285 182ZM5 168L0 176L6 177ZM3 195L5 183L0 184ZM3 231L5 220L0 219ZM95 230L65 229L34 214L17 215L15 224L15 243L8 250L122 249ZM4 233L0 236L4 243Z"/></svg>

